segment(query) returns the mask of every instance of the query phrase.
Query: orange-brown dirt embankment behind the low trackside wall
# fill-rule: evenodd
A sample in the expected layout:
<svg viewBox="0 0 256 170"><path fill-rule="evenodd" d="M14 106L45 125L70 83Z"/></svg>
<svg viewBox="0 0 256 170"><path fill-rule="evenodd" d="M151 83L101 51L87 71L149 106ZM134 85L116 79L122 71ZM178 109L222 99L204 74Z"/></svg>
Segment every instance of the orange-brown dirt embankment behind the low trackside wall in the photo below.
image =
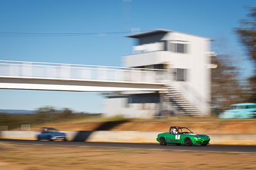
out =
<svg viewBox="0 0 256 170"><path fill-rule="evenodd" d="M111 125L112 124L112 125ZM208 120L208 121L124 121L124 122L86 122L79 124L51 125L60 131L164 131L170 126L188 127L202 134L256 134L255 120ZM31 131L38 131L33 127Z"/></svg>

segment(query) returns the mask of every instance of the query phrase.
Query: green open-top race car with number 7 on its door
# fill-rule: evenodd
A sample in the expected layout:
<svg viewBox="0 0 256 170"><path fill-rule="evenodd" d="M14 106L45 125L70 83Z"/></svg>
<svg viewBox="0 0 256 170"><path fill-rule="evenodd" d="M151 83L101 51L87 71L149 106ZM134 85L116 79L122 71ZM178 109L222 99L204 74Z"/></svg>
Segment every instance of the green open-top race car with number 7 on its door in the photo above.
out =
<svg viewBox="0 0 256 170"><path fill-rule="evenodd" d="M206 146L209 144L210 137L205 134L194 134L186 127L170 127L169 132L157 135L156 140L160 145L167 145L167 143L174 143L176 145L192 146L200 144Z"/></svg>

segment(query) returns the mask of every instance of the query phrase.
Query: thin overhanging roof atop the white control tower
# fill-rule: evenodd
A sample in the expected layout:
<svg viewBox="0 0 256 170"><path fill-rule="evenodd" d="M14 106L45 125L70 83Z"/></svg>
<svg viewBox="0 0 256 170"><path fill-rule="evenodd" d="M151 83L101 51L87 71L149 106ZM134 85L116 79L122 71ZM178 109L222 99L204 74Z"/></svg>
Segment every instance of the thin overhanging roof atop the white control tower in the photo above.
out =
<svg viewBox="0 0 256 170"><path fill-rule="evenodd" d="M154 34L168 33L168 32L178 32L178 31L172 31L170 29L153 29L153 30L150 30L150 31L136 32L134 34L129 34L129 35L125 36L125 37L141 38L143 36L150 36L150 35L154 35ZM179 33L187 34L187 33L184 33L184 32L179 32ZM193 34L188 34L188 35L196 36L196 35L193 35ZM212 40L211 38L207 38L207 37L203 37L203 36L198 36L198 37L202 37L202 38L206 38L206 39Z"/></svg>

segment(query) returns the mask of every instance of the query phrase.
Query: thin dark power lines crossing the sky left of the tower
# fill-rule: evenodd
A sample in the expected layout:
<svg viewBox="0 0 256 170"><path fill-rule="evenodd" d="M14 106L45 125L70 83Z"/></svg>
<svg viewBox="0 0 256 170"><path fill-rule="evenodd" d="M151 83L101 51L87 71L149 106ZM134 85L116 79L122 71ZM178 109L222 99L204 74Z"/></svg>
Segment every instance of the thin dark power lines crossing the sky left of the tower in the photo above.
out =
<svg viewBox="0 0 256 170"><path fill-rule="evenodd" d="M0 36L106 36L112 34L129 34L132 31L121 32L0 32Z"/></svg>

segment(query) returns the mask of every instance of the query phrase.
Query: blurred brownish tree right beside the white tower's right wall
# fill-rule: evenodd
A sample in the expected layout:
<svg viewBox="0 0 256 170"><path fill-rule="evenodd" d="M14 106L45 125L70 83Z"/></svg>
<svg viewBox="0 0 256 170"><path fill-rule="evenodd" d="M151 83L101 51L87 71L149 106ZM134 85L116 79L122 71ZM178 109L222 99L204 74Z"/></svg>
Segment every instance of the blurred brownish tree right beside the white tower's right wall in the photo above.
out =
<svg viewBox="0 0 256 170"><path fill-rule="evenodd" d="M211 57L211 63L217 67L211 71L212 113L218 115L230 104L245 101L246 94L239 82L239 71L229 55Z"/></svg>

